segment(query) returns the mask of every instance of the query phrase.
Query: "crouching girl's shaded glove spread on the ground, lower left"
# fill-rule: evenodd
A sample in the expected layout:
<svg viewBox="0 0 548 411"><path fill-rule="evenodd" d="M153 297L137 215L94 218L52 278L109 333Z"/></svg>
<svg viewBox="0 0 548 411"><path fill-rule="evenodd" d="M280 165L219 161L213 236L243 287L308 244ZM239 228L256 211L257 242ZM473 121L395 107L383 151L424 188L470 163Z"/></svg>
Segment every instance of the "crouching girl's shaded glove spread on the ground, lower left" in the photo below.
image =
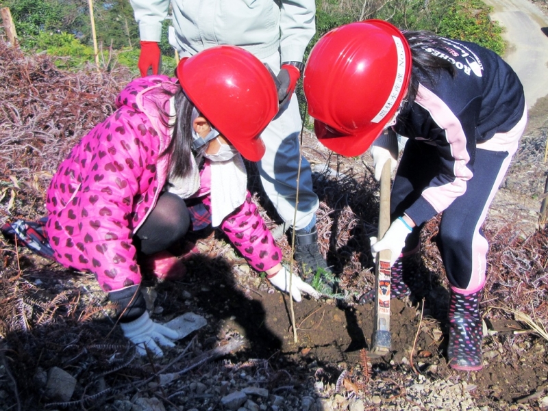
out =
<svg viewBox="0 0 548 411"><path fill-rule="evenodd" d="M158 347L158 344L165 347L174 347L175 343L171 340L175 340L179 336L177 331L152 321L147 311L138 319L129 323L120 323L120 326L125 337L135 344L137 353L141 356L147 354L145 347L150 349L156 356L163 356L164 353Z"/></svg>

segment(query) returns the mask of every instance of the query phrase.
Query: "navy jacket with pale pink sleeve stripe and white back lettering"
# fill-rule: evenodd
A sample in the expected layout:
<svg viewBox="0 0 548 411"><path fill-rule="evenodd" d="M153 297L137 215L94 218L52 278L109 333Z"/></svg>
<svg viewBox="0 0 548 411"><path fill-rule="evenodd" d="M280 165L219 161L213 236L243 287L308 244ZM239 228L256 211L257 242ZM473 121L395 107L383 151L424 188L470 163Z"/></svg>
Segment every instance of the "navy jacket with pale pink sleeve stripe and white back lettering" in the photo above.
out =
<svg viewBox="0 0 548 411"><path fill-rule="evenodd" d="M456 75L443 70L434 85L419 84L414 104L393 127L399 135L436 146L442 163L440 173L406 210L417 225L464 194L478 144L506 151L505 142L493 136L510 131L525 110L523 86L497 54L471 42L443 40L446 48L425 51L451 62Z"/></svg>

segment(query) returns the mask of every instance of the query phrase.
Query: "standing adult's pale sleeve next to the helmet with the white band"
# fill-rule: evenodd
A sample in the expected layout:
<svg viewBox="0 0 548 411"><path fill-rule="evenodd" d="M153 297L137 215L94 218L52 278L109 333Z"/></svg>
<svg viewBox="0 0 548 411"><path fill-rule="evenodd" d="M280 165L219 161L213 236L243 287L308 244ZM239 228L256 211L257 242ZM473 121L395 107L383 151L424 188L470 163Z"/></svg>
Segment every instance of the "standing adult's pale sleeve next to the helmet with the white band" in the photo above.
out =
<svg viewBox="0 0 548 411"><path fill-rule="evenodd" d="M304 51L316 33L314 0L282 0L280 49L282 62L302 62Z"/></svg>

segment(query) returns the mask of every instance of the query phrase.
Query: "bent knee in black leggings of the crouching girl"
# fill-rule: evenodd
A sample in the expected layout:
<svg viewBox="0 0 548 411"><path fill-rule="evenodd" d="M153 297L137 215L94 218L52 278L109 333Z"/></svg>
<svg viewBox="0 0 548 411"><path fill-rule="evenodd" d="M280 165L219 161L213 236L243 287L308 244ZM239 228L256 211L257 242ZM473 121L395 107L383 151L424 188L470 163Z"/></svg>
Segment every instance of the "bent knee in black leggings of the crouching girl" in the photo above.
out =
<svg viewBox="0 0 548 411"><path fill-rule="evenodd" d="M182 198L164 192L147 220L134 235L134 245L145 255L166 250L188 232L190 215Z"/></svg>

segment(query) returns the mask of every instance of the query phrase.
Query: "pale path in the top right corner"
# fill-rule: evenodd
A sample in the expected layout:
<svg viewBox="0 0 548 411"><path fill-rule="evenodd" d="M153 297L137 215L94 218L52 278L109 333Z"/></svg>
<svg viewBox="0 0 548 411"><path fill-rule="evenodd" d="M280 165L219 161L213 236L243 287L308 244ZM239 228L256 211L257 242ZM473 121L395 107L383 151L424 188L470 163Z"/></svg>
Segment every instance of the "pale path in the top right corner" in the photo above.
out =
<svg viewBox="0 0 548 411"><path fill-rule="evenodd" d="M548 17L530 0L484 1L494 8L491 18L506 29L506 62L518 74L527 105L533 107L548 94L548 37L540 30L548 27Z"/></svg>

